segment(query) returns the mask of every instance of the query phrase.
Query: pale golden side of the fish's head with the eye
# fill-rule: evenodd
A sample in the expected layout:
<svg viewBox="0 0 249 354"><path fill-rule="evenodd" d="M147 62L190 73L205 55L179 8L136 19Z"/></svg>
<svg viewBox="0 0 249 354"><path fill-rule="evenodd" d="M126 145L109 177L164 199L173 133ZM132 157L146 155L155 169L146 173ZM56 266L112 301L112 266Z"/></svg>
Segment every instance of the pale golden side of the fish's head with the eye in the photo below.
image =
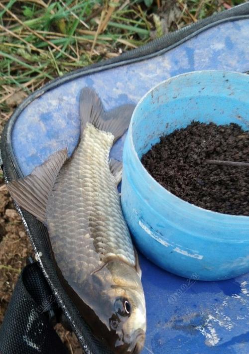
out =
<svg viewBox="0 0 249 354"><path fill-rule="evenodd" d="M109 286L104 291L108 302L108 345L116 354L138 354L143 348L146 309L141 279L136 269L124 261L107 264ZM106 319L107 319L106 318Z"/></svg>

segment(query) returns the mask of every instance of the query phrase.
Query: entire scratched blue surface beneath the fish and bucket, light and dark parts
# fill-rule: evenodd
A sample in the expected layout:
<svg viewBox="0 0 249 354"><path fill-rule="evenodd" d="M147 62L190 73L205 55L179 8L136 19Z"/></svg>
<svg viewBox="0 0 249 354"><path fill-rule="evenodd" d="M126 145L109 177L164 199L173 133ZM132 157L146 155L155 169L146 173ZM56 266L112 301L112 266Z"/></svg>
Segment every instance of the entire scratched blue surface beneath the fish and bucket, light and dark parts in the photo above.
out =
<svg viewBox="0 0 249 354"><path fill-rule="evenodd" d="M249 20L225 22L153 59L82 77L51 90L18 117L12 145L24 174L79 137L80 89L93 87L106 109L137 103L159 82L184 72L249 70ZM124 137L112 155L122 158ZM203 282L173 275L139 254L147 308L142 354L248 354L249 274Z"/></svg>

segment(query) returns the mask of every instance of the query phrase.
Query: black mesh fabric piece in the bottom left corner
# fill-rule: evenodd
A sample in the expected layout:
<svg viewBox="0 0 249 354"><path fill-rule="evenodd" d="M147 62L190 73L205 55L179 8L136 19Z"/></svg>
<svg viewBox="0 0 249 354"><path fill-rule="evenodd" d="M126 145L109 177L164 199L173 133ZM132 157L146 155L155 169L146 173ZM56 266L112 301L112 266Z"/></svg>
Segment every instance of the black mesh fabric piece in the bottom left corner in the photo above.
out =
<svg viewBox="0 0 249 354"><path fill-rule="evenodd" d="M69 354L51 325L56 310L38 264L26 265L0 327L0 354Z"/></svg>

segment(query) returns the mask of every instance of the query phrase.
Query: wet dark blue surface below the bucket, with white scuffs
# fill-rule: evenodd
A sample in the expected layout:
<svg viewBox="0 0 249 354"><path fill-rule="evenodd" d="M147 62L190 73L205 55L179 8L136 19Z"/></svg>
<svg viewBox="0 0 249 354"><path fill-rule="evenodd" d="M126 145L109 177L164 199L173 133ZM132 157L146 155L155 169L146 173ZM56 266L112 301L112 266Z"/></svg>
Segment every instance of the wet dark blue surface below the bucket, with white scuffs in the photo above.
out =
<svg viewBox="0 0 249 354"><path fill-rule="evenodd" d="M249 275L190 280L139 257L147 309L143 353L249 353Z"/></svg>

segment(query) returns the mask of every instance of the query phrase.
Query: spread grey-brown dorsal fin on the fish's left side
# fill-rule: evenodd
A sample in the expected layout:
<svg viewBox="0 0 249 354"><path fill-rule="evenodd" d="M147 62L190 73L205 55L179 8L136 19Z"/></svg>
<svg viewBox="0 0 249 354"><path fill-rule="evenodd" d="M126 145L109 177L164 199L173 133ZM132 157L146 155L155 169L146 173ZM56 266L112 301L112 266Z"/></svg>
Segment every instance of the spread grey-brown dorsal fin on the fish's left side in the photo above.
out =
<svg viewBox="0 0 249 354"><path fill-rule="evenodd" d="M66 159L67 149L57 151L42 165L36 167L30 175L7 183L11 197L16 203L42 223L45 223L48 197Z"/></svg>

